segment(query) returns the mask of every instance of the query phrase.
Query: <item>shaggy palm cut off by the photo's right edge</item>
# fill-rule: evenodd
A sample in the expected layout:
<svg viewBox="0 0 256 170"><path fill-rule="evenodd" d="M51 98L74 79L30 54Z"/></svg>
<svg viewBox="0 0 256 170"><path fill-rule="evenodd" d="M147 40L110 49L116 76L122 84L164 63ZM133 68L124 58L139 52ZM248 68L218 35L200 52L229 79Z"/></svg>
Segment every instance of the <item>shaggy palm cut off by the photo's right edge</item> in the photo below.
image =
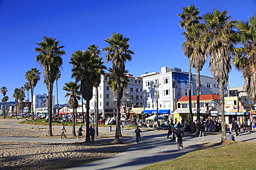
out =
<svg viewBox="0 0 256 170"><path fill-rule="evenodd" d="M237 24L241 47L234 49L233 63L244 76L244 90L249 100L256 103L256 14Z"/></svg>

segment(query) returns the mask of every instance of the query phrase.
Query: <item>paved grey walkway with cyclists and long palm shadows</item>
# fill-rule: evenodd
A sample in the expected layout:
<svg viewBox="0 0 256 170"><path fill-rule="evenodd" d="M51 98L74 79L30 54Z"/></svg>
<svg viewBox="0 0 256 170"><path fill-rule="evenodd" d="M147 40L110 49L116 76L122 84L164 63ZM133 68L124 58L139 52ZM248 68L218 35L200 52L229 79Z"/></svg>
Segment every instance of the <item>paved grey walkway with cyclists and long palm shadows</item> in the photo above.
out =
<svg viewBox="0 0 256 170"><path fill-rule="evenodd" d="M107 128L106 128L107 130ZM128 140L132 142L135 141L134 129L122 129L122 133L129 134L133 136L131 138L120 139L121 141L127 142ZM205 136L192 137L186 135L183 137L183 146L181 150L177 149L176 142L171 141L166 138L166 133L158 133L157 131L143 131L140 144L138 145L134 142L134 145L123 153L119 153L116 156L112 156L107 159L98 160L91 162L89 164L84 164L80 167L73 167L72 170L80 169L129 169L136 170L146 167L149 164L154 164L156 162L165 162L167 160L172 160L179 156L189 153L190 151L195 151L200 147L203 142L220 142L220 133L209 133L205 132ZM97 141L111 142L113 138L98 138ZM244 142L256 142L256 133L248 134L246 132L241 132L239 136L235 136L235 140ZM77 140L75 138L67 138L66 140L59 138L33 138L33 137L0 137L0 142L82 142L82 140Z"/></svg>

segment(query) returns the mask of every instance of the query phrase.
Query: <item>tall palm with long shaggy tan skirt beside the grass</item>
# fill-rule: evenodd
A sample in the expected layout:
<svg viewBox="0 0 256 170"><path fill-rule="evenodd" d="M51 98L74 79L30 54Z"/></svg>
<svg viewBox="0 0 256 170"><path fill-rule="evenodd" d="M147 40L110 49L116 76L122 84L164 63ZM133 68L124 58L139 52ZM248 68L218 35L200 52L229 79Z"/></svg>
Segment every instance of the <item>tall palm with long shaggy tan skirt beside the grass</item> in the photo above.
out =
<svg viewBox="0 0 256 170"><path fill-rule="evenodd" d="M221 141L226 140L226 125L224 115L224 85L228 83L228 74L231 70L231 57L235 23L230 21L228 11L213 10L203 15L208 26L210 39L207 53L210 55L210 70L212 76L219 83L221 99Z"/></svg>

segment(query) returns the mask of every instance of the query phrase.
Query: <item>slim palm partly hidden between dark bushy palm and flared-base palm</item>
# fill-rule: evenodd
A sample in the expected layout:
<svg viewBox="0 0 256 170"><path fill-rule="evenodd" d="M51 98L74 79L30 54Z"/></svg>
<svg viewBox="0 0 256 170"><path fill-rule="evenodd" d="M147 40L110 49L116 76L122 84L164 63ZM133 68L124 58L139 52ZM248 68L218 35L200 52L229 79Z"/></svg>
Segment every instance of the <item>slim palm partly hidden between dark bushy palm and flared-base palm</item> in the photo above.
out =
<svg viewBox="0 0 256 170"><path fill-rule="evenodd" d="M100 50L98 50L99 46L96 46L95 44L89 45L89 47L87 47L87 49L91 52L92 55L94 56L98 56L99 54L101 54ZM100 56L98 56L100 57ZM98 98L98 87L100 86L100 81L101 81L101 75L104 74L103 69L107 69L107 67L105 67L104 65L102 65L102 67L100 68L101 72L99 72L99 74L97 75L97 80L95 81L95 84L93 85L93 87L95 88L95 136L99 135L99 131L98 131L98 115L99 115L99 107L98 107L98 103L99 103L99 98Z"/></svg>

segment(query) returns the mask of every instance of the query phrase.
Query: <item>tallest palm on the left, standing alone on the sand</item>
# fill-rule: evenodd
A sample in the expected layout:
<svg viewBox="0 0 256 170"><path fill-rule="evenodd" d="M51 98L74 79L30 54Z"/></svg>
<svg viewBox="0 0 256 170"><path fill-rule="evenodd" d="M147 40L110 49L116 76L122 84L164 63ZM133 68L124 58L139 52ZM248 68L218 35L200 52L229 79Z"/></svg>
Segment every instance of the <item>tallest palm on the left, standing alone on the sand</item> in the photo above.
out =
<svg viewBox="0 0 256 170"><path fill-rule="evenodd" d="M52 108L53 108L53 83L59 73L60 67L62 67L62 56L65 54L62 48L59 46L60 40L56 41L56 38L44 36L44 40L40 43L36 43L39 47L35 48L35 52L39 55L36 57L36 61L44 68L44 76L46 79L46 87L48 89L48 125L49 136L53 136L52 131Z"/></svg>

